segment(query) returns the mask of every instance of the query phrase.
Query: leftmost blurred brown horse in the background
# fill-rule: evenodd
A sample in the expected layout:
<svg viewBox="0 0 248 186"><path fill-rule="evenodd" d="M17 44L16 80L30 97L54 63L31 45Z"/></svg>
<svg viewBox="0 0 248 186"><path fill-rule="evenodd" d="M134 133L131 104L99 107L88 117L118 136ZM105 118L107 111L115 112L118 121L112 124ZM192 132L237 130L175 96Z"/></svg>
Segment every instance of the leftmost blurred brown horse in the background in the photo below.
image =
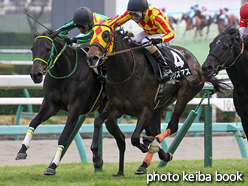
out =
<svg viewBox="0 0 248 186"><path fill-rule="evenodd" d="M199 33L200 36L203 36L201 31L206 26L208 28L207 33L206 33L206 36L207 36L207 34L209 32L209 26L212 23L212 21L210 21L210 22L206 21L205 19L201 19L198 16L195 16L193 19L195 19L195 23L196 23L195 25L191 24L190 18L186 17L185 13L182 14L181 21L185 20L185 22L186 22L186 28L185 28L185 31L184 31L182 37L185 37L186 32L189 30L192 30L194 28L195 28L195 38L197 38L197 33Z"/></svg>

